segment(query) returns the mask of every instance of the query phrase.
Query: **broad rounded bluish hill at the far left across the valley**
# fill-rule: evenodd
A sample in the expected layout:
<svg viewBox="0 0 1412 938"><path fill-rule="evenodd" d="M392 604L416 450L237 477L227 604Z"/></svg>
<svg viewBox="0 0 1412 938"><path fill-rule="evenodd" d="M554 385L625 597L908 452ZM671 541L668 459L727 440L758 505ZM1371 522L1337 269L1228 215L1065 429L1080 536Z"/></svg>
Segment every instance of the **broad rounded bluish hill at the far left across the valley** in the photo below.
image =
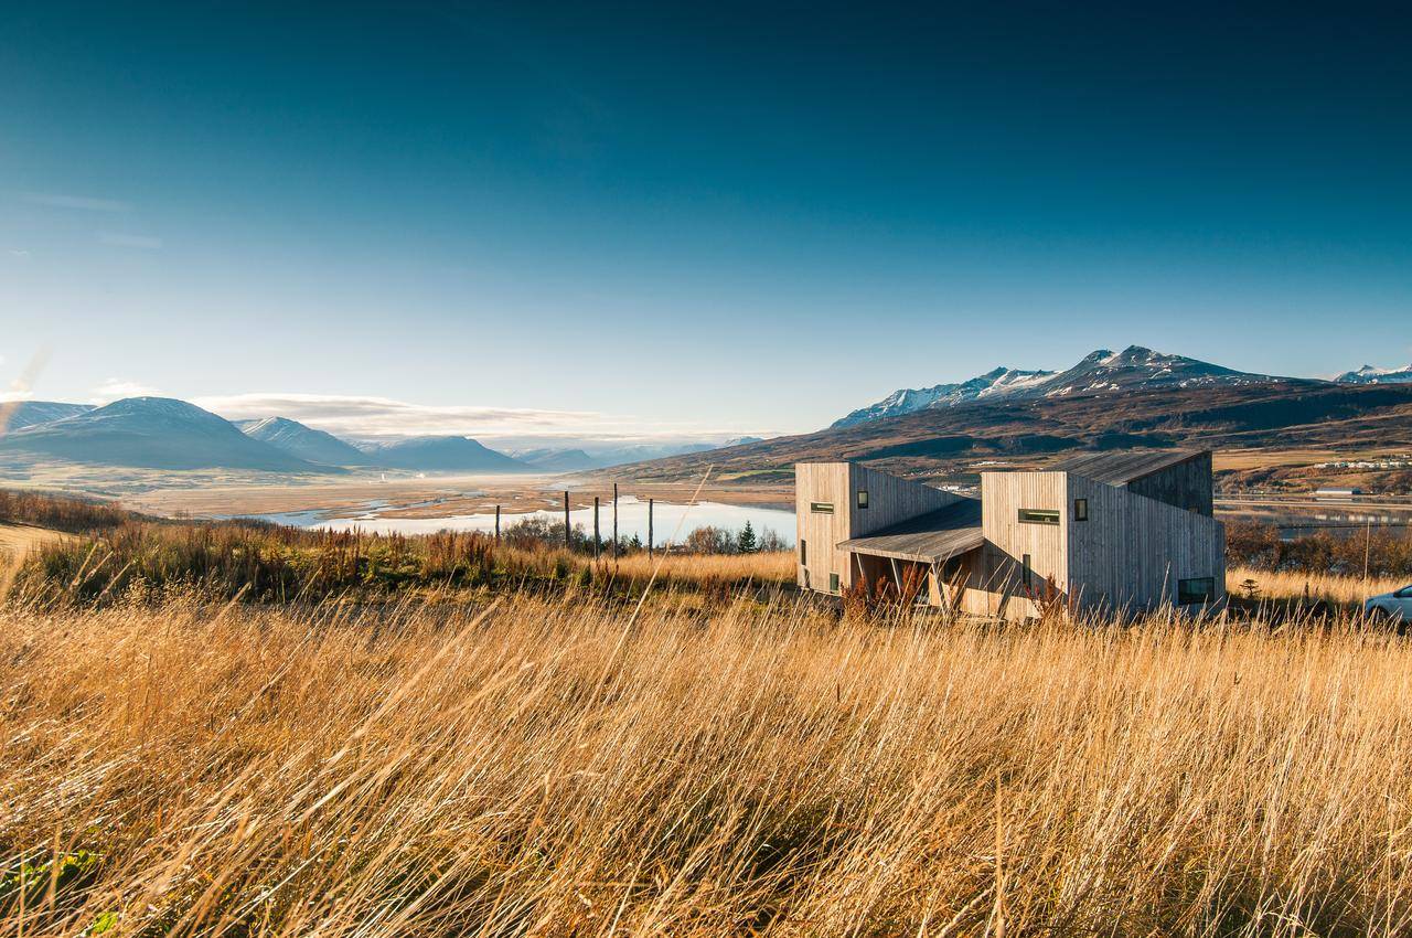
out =
<svg viewBox="0 0 1412 938"><path fill-rule="evenodd" d="M333 472L251 439L195 404L165 397L128 397L0 438L0 461L37 459L143 469Z"/></svg>

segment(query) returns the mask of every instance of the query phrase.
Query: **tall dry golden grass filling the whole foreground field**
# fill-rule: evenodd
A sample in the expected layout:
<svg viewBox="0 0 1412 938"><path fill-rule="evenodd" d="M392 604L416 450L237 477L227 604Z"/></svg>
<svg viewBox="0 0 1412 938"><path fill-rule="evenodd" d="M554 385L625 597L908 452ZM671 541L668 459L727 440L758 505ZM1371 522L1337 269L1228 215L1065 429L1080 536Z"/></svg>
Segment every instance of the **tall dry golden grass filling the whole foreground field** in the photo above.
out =
<svg viewBox="0 0 1412 938"><path fill-rule="evenodd" d="M1412 928L1402 640L779 603L0 609L0 935Z"/></svg>

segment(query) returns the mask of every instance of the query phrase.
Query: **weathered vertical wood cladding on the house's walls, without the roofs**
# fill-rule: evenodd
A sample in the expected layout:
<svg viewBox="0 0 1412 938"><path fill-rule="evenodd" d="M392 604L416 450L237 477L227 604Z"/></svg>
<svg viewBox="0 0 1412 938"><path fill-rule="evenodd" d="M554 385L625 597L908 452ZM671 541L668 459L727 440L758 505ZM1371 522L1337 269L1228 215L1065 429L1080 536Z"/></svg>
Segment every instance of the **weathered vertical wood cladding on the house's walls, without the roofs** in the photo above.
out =
<svg viewBox="0 0 1412 938"><path fill-rule="evenodd" d="M795 468L801 586L827 592L830 575L847 589L860 565L887 576L888 561L857 558L840 541L864 537L935 511L959 499L915 482L843 462ZM858 490L868 507L857 507ZM1087 520L1076 520L1083 499ZM833 506L812 511L812 503ZM1032 595L1052 581L1076 612L1176 605L1178 583L1211 578L1216 602L1226 595L1226 528L1211 517L1211 458L1200 453L1124 485L1072 472L983 472L984 544L933 569L929 598L981 616L1039 615ZM1036 521L1021 521L1021 511ZM1053 513L1058 523L1045 523ZM1031 571L1025 582L1025 559Z"/></svg>

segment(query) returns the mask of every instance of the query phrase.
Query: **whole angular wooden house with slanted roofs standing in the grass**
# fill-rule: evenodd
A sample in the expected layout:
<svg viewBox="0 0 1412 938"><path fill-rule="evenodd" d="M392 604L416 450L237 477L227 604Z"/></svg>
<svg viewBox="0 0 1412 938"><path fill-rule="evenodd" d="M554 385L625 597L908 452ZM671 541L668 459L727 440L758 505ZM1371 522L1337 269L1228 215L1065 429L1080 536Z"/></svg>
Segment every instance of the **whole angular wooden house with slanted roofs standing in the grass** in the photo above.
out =
<svg viewBox="0 0 1412 938"><path fill-rule="evenodd" d="M1209 451L1091 453L980 477L971 499L857 463L798 463L799 585L901 586L1007 619L1048 602L1087 612L1224 599Z"/></svg>

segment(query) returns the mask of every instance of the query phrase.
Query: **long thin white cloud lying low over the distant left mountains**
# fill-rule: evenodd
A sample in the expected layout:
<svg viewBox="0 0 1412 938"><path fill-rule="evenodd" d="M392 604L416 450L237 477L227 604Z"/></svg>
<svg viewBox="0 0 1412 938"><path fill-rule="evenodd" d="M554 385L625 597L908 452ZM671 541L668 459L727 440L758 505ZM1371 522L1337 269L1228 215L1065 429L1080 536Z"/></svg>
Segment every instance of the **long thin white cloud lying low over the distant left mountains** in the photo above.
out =
<svg viewBox="0 0 1412 938"><path fill-rule="evenodd" d="M651 424L638 417L597 411L513 407L438 407L387 397L340 394L234 394L198 397L198 407L227 420L287 417L339 437L494 437L535 439L719 439L737 429L690 424Z"/></svg>

